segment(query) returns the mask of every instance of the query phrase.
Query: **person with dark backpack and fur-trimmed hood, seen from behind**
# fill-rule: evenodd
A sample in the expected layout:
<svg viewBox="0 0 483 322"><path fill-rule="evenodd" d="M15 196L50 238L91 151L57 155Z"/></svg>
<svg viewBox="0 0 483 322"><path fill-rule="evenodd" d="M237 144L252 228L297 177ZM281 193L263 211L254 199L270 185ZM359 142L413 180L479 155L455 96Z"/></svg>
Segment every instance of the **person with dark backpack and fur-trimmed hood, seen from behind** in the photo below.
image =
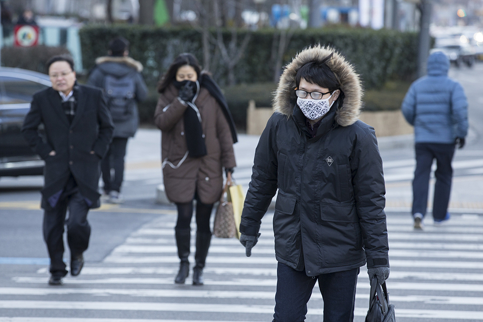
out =
<svg viewBox="0 0 483 322"><path fill-rule="evenodd" d="M134 136L139 124L137 103L147 97L142 64L128 57L128 47L126 39L114 38L109 43L109 55L96 59L96 67L87 81L88 85L104 89L115 125L113 140L101 162L104 194L114 204L122 203L120 192L127 139ZM114 178L111 169L114 169Z"/></svg>

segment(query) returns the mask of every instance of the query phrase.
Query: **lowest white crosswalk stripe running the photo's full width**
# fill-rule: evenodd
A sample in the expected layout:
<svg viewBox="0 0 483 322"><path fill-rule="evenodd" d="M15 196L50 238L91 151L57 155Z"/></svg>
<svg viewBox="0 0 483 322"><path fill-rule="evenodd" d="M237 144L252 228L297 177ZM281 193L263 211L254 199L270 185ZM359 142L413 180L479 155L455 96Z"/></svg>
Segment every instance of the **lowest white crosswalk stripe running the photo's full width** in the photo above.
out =
<svg viewBox="0 0 483 322"><path fill-rule="evenodd" d="M56 310L118 310L157 312L209 312L272 314L273 306L267 305L216 305L193 303L129 303L129 302L66 302L66 301L0 301L5 309L56 309ZM355 315L365 316L366 308L356 308ZM308 315L322 316L323 309L309 309ZM397 309L400 318L483 320L480 311L410 310ZM119 320L118 320L119 321ZM142 320L140 320L142 321Z"/></svg>

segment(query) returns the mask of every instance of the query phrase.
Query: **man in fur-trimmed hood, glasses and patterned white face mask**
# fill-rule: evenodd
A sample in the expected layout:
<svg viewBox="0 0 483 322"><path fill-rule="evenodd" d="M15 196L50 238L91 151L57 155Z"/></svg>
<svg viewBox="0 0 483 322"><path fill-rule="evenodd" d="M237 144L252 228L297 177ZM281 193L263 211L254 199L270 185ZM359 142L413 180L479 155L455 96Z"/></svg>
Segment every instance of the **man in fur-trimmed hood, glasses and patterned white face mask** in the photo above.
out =
<svg viewBox="0 0 483 322"><path fill-rule="evenodd" d="M298 53L278 83L240 224L250 256L278 189L273 321L304 321L318 281L324 322L352 322L360 267L381 284L389 276L382 160L374 129L358 120L361 96L354 67L320 45Z"/></svg>

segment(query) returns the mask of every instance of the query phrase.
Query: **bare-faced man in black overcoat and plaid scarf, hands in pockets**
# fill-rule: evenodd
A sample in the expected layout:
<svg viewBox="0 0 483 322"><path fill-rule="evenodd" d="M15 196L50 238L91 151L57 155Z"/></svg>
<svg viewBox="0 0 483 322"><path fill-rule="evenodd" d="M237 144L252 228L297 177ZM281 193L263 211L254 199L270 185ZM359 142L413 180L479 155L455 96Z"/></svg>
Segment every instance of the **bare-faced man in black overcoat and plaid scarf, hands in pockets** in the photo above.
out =
<svg viewBox="0 0 483 322"><path fill-rule="evenodd" d="M42 208L43 235L50 256L50 285L67 274L63 261L64 223L71 252L71 275L79 275L89 245L90 208L100 206L99 164L114 125L99 89L76 82L70 56L54 56L46 64L52 87L34 94L22 133L45 160ZM45 138L38 132L44 125ZM69 218L65 220L67 209Z"/></svg>

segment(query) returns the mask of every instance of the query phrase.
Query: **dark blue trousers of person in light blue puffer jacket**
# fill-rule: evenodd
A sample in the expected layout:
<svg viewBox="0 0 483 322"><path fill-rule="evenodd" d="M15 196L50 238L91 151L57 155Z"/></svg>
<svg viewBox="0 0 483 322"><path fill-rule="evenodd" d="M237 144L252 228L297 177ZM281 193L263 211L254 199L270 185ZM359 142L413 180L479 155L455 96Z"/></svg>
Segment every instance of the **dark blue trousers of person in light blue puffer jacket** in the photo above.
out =
<svg viewBox="0 0 483 322"><path fill-rule="evenodd" d="M433 218L442 220L450 202L453 168L451 161L455 154L455 144L416 143L416 170L413 180L412 214L426 215L428 205L429 177L433 160L436 159L436 183L434 184Z"/></svg>

